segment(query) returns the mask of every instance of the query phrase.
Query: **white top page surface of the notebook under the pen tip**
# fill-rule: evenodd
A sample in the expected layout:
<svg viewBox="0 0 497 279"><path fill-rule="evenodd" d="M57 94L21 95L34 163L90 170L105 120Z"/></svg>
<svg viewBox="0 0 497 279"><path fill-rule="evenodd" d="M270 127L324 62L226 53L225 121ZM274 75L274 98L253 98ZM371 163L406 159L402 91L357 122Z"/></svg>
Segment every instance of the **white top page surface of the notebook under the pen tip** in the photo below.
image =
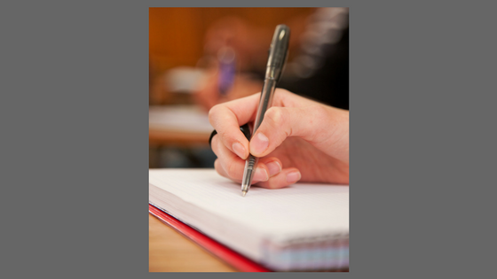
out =
<svg viewBox="0 0 497 279"><path fill-rule="evenodd" d="M213 169L150 169L149 183L272 239L349 231L348 186L296 183L279 190L252 186L242 197L239 183Z"/></svg>

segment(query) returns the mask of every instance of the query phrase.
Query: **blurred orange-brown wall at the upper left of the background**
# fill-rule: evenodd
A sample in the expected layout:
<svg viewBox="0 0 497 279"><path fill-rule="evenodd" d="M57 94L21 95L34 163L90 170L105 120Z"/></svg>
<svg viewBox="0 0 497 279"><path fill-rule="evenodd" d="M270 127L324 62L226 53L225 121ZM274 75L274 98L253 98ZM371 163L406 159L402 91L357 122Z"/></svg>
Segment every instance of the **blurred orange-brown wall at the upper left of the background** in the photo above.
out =
<svg viewBox="0 0 497 279"><path fill-rule="evenodd" d="M203 56L207 28L217 19L236 16L254 27L292 26L315 8L149 8L149 58L151 105L170 104L155 82L175 66L195 66ZM293 30L292 33L295 34ZM271 39L271 38L269 38ZM160 83L160 82L159 82Z"/></svg>

